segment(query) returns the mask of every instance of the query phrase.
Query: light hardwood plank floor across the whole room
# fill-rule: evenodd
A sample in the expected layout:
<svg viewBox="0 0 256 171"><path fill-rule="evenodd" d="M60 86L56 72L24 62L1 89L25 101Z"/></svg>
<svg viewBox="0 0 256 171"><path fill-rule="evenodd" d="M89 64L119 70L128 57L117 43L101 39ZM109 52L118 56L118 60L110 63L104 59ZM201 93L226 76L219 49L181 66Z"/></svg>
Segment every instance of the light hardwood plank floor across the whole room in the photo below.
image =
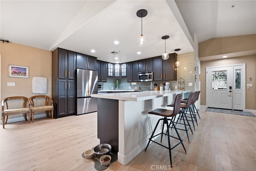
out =
<svg viewBox="0 0 256 171"><path fill-rule="evenodd" d="M204 108L200 117L190 143L186 133L179 131L188 153L181 145L172 150L172 171L256 171L256 117L206 112ZM85 150L100 142L96 113L5 126L0 129L1 171L96 170L92 160L82 158ZM163 143L167 143L166 137ZM168 150L151 143L128 165L116 161L106 171L168 170L169 165Z"/></svg>

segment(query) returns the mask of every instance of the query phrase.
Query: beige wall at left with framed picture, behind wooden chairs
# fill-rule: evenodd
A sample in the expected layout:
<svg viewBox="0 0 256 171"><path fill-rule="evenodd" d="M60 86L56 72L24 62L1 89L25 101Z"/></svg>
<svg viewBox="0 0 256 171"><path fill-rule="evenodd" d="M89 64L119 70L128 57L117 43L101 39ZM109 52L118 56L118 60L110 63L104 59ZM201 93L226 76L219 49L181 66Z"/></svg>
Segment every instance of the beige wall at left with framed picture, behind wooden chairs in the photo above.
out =
<svg viewBox="0 0 256 171"><path fill-rule="evenodd" d="M15 43L0 44L1 53L1 100L9 96L32 95L32 78L47 78L47 93L52 96L52 52L24 46ZM8 77L9 65L29 67L29 78ZM7 82L15 82L15 87L8 87ZM36 115L37 113L35 113ZM22 115L12 115L9 118L22 117ZM1 117L2 119L2 117Z"/></svg>

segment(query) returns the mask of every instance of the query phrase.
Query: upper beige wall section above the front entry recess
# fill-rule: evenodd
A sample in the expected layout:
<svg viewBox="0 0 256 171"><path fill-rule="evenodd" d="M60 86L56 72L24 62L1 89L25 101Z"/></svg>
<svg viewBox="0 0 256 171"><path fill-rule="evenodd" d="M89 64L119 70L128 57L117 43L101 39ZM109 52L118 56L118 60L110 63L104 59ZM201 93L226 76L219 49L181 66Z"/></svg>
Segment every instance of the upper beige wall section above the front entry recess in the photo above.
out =
<svg viewBox="0 0 256 171"><path fill-rule="evenodd" d="M199 59L207 56L244 52L256 49L256 34L212 38L199 43Z"/></svg>

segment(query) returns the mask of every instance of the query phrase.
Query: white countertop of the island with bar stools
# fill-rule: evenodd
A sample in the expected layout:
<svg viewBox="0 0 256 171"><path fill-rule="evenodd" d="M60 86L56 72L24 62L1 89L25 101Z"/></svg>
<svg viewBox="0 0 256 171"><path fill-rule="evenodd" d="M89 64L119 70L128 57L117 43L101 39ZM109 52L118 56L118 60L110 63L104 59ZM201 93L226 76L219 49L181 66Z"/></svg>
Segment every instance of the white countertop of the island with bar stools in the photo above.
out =
<svg viewBox="0 0 256 171"><path fill-rule="evenodd" d="M103 90L106 91L106 90ZM116 90L114 90L116 91ZM124 90L120 90L124 91ZM188 91L137 91L137 92L125 92L125 93L102 93L92 94L92 97L104 98L104 99L116 99L127 101L142 101L148 99L155 99L158 97L165 97L172 95L173 93L186 93Z"/></svg>

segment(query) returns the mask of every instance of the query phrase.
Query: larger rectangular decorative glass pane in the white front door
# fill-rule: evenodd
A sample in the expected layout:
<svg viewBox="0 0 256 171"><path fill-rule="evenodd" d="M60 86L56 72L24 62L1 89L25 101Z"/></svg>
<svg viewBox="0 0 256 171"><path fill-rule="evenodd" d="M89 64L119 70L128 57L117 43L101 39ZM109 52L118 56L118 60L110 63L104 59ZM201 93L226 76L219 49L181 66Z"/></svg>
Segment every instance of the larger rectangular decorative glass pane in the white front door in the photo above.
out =
<svg viewBox="0 0 256 171"><path fill-rule="evenodd" d="M212 72L212 89L227 89L227 71Z"/></svg>

